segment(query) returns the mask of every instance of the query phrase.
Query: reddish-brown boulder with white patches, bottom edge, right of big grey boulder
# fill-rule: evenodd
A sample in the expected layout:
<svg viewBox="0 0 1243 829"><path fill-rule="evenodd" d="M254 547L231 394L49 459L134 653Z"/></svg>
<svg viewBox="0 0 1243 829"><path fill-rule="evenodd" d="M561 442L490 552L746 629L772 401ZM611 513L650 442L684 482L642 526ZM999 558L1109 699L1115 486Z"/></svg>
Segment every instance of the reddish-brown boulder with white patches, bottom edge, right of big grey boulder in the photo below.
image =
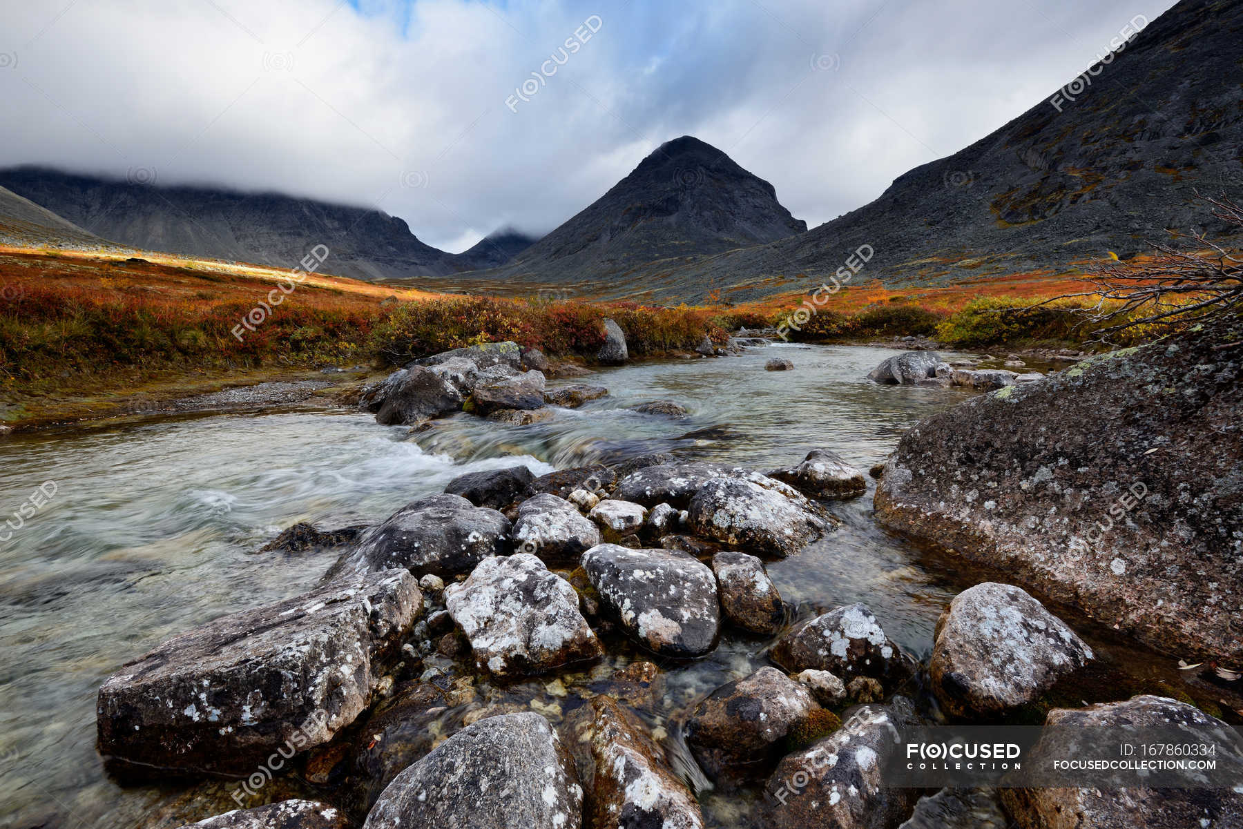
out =
<svg viewBox="0 0 1243 829"><path fill-rule="evenodd" d="M590 751L587 825L593 829L702 829L699 802L631 712L597 696L582 736Z"/></svg>

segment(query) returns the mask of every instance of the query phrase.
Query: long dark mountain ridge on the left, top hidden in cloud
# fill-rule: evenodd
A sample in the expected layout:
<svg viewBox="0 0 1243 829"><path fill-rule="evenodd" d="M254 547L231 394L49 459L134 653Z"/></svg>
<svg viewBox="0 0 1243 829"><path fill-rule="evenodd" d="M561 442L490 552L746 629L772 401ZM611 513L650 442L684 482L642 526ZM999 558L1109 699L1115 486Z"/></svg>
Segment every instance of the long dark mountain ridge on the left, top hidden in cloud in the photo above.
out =
<svg viewBox="0 0 1243 829"><path fill-rule="evenodd" d="M134 247L295 267L322 244L331 251L326 271L362 280L445 276L492 265L505 250L446 254L395 216L277 193L153 186L39 167L0 170L0 186Z"/></svg>

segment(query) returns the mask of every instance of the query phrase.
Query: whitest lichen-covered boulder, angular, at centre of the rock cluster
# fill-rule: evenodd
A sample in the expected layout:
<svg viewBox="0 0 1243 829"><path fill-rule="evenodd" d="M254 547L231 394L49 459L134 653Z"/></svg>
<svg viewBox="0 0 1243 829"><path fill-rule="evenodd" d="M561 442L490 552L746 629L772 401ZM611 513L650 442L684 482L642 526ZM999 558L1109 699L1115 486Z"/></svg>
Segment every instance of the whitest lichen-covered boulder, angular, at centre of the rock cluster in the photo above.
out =
<svg viewBox="0 0 1243 829"><path fill-rule="evenodd" d="M485 558L470 578L445 588L445 605L470 640L475 664L497 679L604 654L574 588L527 553Z"/></svg>

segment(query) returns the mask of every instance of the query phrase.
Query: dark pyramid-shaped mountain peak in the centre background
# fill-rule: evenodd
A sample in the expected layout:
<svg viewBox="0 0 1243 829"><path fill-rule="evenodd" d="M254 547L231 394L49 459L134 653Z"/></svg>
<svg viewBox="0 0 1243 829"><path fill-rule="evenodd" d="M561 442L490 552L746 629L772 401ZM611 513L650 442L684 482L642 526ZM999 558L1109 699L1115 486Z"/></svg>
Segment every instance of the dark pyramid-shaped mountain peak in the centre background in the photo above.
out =
<svg viewBox="0 0 1243 829"><path fill-rule="evenodd" d="M777 201L773 185L685 135L663 144L507 266L479 276L576 283L625 278L805 231L807 224Z"/></svg>

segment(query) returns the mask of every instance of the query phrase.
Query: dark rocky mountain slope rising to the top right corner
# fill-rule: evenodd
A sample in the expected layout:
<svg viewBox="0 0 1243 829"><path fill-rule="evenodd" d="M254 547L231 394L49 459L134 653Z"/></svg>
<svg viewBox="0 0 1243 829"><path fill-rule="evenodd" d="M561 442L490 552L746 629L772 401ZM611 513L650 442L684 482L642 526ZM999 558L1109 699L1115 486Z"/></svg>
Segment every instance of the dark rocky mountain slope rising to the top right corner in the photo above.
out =
<svg viewBox="0 0 1243 829"><path fill-rule="evenodd" d="M689 263L665 288L687 300L705 286L736 300L810 288L861 245L875 257L859 278L900 287L1058 272L1192 229L1226 234L1195 190L1243 200L1243 2L1183 0L1106 60L871 204Z"/></svg>

